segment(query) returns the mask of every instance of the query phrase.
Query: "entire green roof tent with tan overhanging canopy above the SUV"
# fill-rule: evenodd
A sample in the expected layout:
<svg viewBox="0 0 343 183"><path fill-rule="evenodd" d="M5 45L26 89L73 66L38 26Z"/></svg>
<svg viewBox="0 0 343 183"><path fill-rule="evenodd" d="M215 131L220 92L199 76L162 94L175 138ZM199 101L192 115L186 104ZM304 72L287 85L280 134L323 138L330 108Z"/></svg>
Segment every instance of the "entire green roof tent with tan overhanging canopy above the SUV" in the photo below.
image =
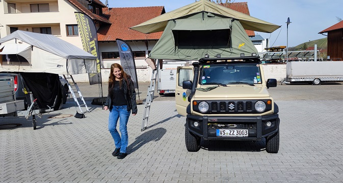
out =
<svg viewBox="0 0 343 183"><path fill-rule="evenodd" d="M200 0L130 29L143 33L164 31L150 52L151 59L199 60L205 58L206 54L209 58L219 54L221 58L257 54L245 29L272 32L279 27L207 0Z"/></svg>

